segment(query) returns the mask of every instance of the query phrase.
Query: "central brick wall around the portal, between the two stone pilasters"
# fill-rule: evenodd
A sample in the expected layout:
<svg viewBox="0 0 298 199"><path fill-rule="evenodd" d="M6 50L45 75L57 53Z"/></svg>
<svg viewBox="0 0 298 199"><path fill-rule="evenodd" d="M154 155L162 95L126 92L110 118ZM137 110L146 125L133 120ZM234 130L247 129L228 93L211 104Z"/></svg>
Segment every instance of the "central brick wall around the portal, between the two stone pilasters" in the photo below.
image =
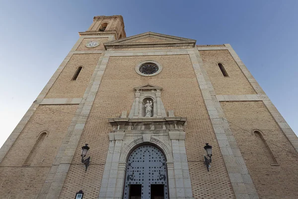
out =
<svg viewBox="0 0 298 199"><path fill-rule="evenodd" d="M162 71L152 77L138 75L135 66L144 60L159 62ZM91 183L83 187L86 198L98 196L109 144L108 133L111 130L107 118L118 117L124 110L129 111L134 100L133 88L146 84L163 88L161 100L166 111L174 110L175 115L188 117L185 128L186 148L195 198L234 198L189 55L109 58L60 198L72 199L81 189L81 182L90 179ZM205 142L214 146L211 172L207 172L203 164ZM84 143L89 144L88 153L91 156L91 166L86 173L80 163L80 147ZM84 175L77 174L76 169ZM210 183L206 183L207 178Z"/></svg>

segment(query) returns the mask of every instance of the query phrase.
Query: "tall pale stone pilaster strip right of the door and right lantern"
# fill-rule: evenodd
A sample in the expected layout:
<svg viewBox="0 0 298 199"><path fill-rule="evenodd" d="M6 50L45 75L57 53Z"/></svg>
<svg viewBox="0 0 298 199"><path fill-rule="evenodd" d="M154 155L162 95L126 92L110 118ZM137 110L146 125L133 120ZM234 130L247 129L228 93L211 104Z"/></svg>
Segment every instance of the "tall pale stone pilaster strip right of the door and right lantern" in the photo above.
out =
<svg viewBox="0 0 298 199"><path fill-rule="evenodd" d="M229 124L226 120L221 119L221 117L225 118L224 111L215 96L207 71L201 68L204 63L199 51L190 54L190 58L235 197L236 199L259 199Z"/></svg>

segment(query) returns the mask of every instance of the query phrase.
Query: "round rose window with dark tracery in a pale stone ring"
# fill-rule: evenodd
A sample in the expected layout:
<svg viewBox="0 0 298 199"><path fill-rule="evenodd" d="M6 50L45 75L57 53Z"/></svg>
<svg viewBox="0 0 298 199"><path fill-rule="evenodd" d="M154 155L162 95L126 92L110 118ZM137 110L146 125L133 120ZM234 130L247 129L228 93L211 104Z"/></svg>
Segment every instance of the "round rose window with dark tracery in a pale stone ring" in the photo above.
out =
<svg viewBox="0 0 298 199"><path fill-rule="evenodd" d="M155 61L143 61L136 66L136 72L142 76L153 76L160 73L162 67Z"/></svg>

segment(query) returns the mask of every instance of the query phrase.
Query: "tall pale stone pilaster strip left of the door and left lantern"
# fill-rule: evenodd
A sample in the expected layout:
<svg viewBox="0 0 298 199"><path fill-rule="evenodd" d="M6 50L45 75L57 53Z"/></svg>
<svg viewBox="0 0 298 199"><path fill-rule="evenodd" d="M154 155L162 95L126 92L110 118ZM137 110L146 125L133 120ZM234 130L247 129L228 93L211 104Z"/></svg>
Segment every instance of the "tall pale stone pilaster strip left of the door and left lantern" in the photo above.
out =
<svg viewBox="0 0 298 199"><path fill-rule="evenodd" d="M113 39L114 37L109 37ZM77 49L78 45L82 42L83 37L79 38L73 51ZM72 51L72 53L73 53ZM99 88L104 70L106 68L109 57L101 56L97 62L95 70L89 81L89 85L85 90L83 99L78 106L74 115L73 121L69 127L68 135L66 136L63 144L52 165L47 180L41 190L38 199L58 199L63 188L64 181L68 174L70 165L73 160L75 149L83 132L87 116L91 110L91 106L95 99L95 95Z"/></svg>

